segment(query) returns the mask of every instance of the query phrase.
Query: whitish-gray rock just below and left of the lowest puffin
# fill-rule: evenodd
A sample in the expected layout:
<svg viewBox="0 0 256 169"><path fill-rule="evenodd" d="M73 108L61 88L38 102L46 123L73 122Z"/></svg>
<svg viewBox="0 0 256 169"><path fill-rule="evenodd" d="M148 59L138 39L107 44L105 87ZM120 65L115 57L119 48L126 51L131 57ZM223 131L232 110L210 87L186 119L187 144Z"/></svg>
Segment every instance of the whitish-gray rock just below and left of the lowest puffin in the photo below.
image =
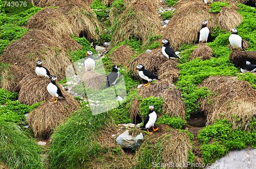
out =
<svg viewBox="0 0 256 169"><path fill-rule="evenodd" d="M116 142L119 146L126 149L137 149L140 147L143 141L143 134L140 133L136 137L129 135L129 130L125 130L116 138Z"/></svg>

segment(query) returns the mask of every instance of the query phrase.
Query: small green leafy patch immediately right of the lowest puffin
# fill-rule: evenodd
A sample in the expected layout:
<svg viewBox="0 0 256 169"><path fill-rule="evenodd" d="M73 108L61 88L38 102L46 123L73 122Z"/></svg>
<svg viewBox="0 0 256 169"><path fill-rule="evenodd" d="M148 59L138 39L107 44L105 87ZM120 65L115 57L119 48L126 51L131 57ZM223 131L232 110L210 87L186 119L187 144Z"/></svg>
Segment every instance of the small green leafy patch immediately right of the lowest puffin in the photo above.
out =
<svg viewBox="0 0 256 169"><path fill-rule="evenodd" d="M156 124L166 124L173 128L181 129L185 122L178 116L170 117L168 115L163 115L157 119Z"/></svg>

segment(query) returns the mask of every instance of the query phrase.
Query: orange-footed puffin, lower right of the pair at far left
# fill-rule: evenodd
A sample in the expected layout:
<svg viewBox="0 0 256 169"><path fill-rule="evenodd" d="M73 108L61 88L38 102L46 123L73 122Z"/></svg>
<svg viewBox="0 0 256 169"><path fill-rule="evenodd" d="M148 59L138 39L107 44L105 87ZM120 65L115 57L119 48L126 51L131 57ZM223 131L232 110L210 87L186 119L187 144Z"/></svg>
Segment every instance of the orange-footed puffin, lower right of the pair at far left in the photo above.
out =
<svg viewBox="0 0 256 169"><path fill-rule="evenodd" d="M62 95L59 87L56 86L57 76L52 76L51 82L47 86L47 91L50 93L50 95L53 97L53 103L56 103L58 98L64 99L65 96ZM56 100L55 100L56 98Z"/></svg>

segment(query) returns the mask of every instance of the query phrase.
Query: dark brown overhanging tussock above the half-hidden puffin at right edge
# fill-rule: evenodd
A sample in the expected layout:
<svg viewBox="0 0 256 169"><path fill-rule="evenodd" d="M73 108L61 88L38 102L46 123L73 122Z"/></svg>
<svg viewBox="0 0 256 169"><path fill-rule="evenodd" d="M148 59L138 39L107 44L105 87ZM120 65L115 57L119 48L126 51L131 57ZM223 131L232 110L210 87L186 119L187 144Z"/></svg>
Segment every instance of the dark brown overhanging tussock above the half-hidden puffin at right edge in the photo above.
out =
<svg viewBox="0 0 256 169"><path fill-rule="evenodd" d="M233 50L229 55L229 60L235 67L241 67L244 61L256 64L256 51Z"/></svg>

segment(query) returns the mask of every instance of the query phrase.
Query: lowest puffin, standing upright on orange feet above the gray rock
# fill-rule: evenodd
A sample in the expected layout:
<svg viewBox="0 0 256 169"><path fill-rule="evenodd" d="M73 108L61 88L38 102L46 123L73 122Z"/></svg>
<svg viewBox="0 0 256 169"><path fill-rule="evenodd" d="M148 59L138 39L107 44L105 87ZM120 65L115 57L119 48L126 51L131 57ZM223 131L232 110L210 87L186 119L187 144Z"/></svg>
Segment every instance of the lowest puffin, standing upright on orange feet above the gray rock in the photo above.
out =
<svg viewBox="0 0 256 169"><path fill-rule="evenodd" d="M154 105L150 105L150 112L148 112L145 120L144 120L144 125L142 127L142 130L147 130L148 133L152 134L153 132L148 131L151 127L153 127L153 131L157 131L158 128L154 128L154 124L157 120L157 114L154 111Z"/></svg>

